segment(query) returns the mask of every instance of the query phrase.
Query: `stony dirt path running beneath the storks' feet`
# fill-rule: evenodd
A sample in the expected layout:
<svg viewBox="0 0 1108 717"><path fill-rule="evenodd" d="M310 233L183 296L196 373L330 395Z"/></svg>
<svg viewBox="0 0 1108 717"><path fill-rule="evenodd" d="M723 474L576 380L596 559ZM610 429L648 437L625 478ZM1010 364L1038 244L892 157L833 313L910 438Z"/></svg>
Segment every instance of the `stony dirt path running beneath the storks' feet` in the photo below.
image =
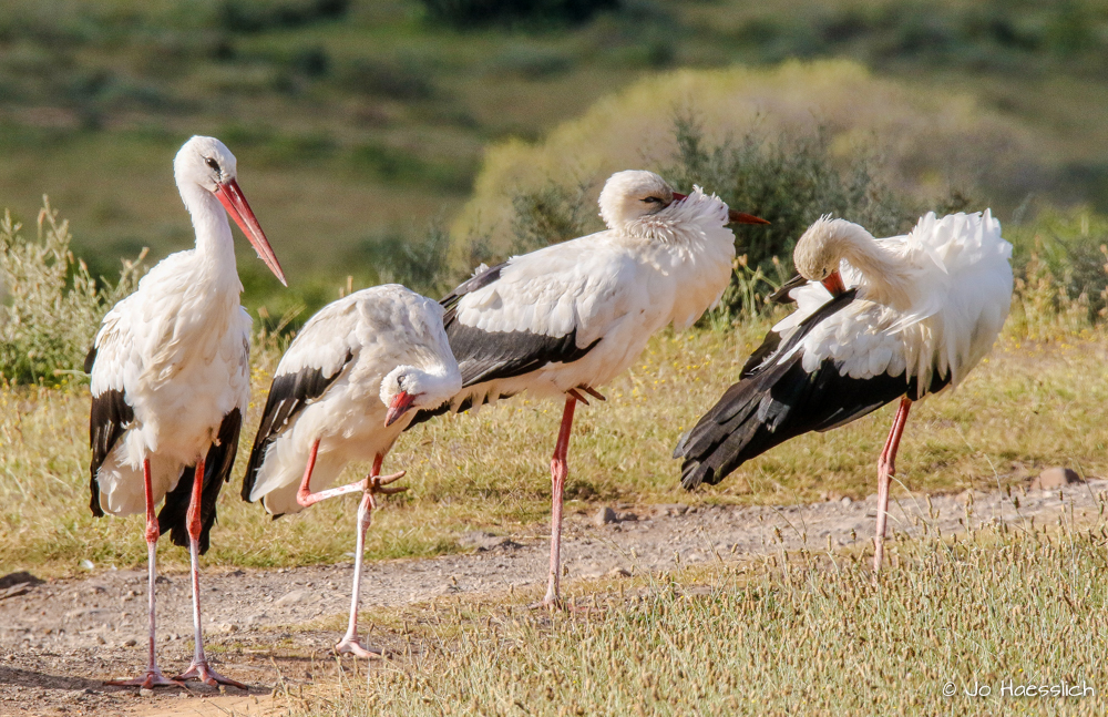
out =
<svg viewBox="0 0 1108 717"><path fill-rule="evenodd" d="M1013 498L976 493L973 520L1055 521L1063 511L1091 519L1108 481L1061 491L1014 491ZM926 521L944 534L964 530L967 494L901 498L890 527L921 532ZM654 505L616 509L614 522L596 514L567 519L563 555L573 581L671 570L683 564L747 560L783 547L813 551L869 541L875 499L786 508ZM931 516L929 516L929 513ZM544 583L548 550L542 531L520 535L473 533L473 552L370 564L362 586L368 621L375 608L427 602L441 595L493 594ZM81 578L0 580L0 714L21 715L261 715L283 675L311 679L334 670L335 629L312 624L341 616L349 605L352 564L277 571L207 571L202 576L205 631L225 674L254 685L248 695L197 687L158 690L105 687L103 679L134 676L144 664L145 573L99 571ZM160 660L183 669L192 654L187 574L160 577ZM304 629L307 625L309 629Z"/></svg>

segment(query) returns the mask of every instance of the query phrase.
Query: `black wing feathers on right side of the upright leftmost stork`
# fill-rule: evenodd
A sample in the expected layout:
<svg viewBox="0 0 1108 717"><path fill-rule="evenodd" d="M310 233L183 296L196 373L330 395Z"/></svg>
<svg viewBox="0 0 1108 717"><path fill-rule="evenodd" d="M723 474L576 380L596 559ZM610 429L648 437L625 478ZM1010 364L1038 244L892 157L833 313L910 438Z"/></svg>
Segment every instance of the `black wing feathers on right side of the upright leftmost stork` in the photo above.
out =
<svg viewBox="0 0 1108 717"><path fill-rule="evenodd" d="M201 535L199 552L203 555L208 549L208 534L215 523L215 508L219 500L223 484L230 480L230 470L235 467L235 455L238 453L238 436L243 429L243 413L237 408L223 417L219 433L207 458L204 459L204 484L201 486ZM165 534L174 545L188 546L188 503L193 494L193 481L196 479L196 467L189 465L181 473L176 488L165 494L165 503L157 513L157 529Z"/></svg>

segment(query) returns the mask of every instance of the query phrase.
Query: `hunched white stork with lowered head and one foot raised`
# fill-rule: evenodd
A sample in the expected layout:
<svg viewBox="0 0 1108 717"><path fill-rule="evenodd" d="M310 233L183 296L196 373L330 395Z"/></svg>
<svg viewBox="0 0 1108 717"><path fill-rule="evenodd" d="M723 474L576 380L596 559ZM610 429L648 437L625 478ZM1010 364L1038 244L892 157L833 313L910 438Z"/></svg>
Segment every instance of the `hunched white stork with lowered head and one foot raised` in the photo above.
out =
<svg viewBox="0 0 1108 717"><path fill-rule="evenodd" d="M414 417L462 388L442 326L442 307L390 284L325 306L304 325L274 376L243 480L243 498L275 516L361 492L350 624L335 646L369 657L358 639L361 562L373 495L403 472L380 477L381 461ZM373 461L363 480L330 485L350 461ZM312 489L318 492L312 493ZM379 652L372 649L372 652Z"/></svg>

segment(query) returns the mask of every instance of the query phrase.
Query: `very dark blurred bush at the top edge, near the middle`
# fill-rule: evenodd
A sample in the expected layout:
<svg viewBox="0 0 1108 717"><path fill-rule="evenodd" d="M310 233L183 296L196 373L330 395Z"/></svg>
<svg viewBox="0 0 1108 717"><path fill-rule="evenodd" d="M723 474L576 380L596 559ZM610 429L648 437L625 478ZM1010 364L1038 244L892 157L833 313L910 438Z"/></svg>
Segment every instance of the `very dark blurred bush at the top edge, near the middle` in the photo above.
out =
<svg viewBox="0 0 1108 717"><path fill-rule="evenodd" d="M432 19L455 27L502 23L579 24L619 0L423 0Z"/></svg>

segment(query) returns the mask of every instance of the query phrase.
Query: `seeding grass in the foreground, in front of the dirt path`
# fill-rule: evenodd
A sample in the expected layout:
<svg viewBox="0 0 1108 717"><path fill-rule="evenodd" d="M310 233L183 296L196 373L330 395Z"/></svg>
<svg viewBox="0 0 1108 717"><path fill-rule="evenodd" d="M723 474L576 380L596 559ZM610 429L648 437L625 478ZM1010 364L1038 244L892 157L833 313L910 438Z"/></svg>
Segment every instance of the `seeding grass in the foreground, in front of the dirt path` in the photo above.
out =
<svg viewBox="0 0 1108 717"><path fill-rule="evenodd" d="M328 717L1098 715L1105 535L1101 516L897 541L879 578L858 553L801 551L578 585L577 604L599 608L584 614L536 615L526 596L411 606L382 616L377 638L402 654L368 678L279 694ZM1095 692L1003 692L1061 683ZM979 686L991 694L966 694Z"/></svg>

